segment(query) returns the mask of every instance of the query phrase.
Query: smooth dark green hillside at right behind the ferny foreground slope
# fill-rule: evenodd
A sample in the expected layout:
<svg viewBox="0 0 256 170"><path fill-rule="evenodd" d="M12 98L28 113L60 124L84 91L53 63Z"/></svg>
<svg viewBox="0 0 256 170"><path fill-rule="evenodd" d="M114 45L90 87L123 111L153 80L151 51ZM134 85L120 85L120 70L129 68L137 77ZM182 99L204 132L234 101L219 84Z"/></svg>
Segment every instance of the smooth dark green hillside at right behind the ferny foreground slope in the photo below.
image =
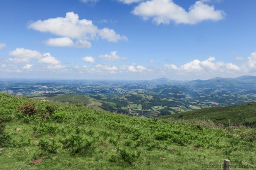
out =
<svg viewBox="0 0 256 170"><path fill-rule="evenodd" d="M256 102L228 107L212 107L178 114L171 114L159 119L203 119L211 120L215 123L245 124L256 126Z"/></svg>

